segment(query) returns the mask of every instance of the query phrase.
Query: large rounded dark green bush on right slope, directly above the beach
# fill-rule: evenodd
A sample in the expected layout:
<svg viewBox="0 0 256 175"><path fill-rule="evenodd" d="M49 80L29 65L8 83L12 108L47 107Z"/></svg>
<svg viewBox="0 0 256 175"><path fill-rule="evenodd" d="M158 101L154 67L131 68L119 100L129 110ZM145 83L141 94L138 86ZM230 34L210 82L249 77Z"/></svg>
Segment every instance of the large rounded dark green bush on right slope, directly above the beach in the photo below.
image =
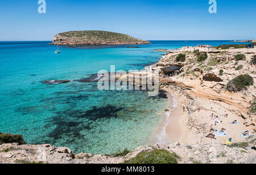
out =
<svg viewBox="0 0 256 175"><path fill-rule="evenodd" d="M236 92L247 89L247 86L253 85L253 83L253 77L249 76L249 74L244 74L230 80L226 87L228 91Z"/></svg>

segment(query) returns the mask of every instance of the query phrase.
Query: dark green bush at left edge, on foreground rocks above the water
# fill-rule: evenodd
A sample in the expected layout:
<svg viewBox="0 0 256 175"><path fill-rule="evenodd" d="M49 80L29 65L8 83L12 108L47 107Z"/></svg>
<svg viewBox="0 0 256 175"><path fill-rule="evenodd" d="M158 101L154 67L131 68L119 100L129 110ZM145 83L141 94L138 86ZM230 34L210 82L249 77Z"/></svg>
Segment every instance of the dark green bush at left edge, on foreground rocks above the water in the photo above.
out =
<svg viewBox="0 0 256 175"><path fill-rule="evenodd" d="M26 141L23 140L23 136L16 134L3 134L0 132L0 145L4 143L18 143L18 144L26 144Z"/></svg>

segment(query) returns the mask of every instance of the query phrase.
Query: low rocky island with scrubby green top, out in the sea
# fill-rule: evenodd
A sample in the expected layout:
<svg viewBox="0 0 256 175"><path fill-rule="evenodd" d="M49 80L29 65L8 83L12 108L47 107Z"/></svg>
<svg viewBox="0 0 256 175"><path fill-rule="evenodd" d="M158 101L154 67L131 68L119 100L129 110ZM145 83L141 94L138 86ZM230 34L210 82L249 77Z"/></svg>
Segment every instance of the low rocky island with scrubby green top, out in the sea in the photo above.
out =
<svg viewBox="0 0 256 175"><path fill-rule="evenodd" d="M56 34L52 45L135 45L149 41L108 31L70 31Z"/></svg>

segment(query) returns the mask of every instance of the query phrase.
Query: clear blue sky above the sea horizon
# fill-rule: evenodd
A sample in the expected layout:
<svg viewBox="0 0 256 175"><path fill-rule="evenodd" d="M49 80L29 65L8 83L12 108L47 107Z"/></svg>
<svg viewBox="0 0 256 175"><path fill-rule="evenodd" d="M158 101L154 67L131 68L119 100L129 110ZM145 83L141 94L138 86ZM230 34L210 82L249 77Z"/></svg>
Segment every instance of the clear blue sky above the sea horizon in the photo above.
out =
<svg viewBox="0 0 256 175"><path fill-rule="evenodd" d="M105 30L145 40L256 39L256 1L216 0L0 1L0 41L52 40L59 32Z"/></svg>

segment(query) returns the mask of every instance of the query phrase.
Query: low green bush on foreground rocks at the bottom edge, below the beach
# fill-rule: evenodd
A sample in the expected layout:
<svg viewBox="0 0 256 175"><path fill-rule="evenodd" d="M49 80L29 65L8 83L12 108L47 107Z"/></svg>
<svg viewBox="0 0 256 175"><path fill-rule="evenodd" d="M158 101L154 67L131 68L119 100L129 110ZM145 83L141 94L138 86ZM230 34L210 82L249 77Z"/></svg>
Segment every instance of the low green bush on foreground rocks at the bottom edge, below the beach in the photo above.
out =
<svg viewBox="0 0 256 175"><path fill-rule="evenodd" d="M151 152L141 152L136 157L125 161L125 164L177 164L179 159L176 153L156 149Z"/></svg>

